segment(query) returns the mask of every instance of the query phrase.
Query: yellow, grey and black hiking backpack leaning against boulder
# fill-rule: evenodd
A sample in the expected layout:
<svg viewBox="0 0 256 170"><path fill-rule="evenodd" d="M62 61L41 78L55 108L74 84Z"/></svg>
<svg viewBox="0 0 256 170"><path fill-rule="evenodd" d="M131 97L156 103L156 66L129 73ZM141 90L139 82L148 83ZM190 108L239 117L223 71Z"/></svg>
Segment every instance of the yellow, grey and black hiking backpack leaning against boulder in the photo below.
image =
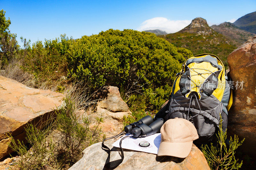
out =
<svg viewBox="0 0 256 170"><path fill-rule="evenodd" d="M216 55L190 57L175 78L168 103L154 119L187 119L196 127L199 136L196 144L212 142L220 121L222 130L227 129L228 110L233 102L229 82L225 67Z"/></svg>

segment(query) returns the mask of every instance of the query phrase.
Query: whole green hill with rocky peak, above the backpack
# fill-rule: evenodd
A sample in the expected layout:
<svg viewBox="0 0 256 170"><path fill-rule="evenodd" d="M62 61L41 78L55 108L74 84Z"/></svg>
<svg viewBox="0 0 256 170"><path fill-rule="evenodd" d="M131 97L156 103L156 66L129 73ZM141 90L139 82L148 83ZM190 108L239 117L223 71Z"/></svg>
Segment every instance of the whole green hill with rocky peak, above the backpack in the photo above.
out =
<svg viewBox="0 0 256 170"><path fill-rule="evenodd" d="M159 36L176 47L187 48L194 55L210 53L220 57L228 67L227 57L237 48L236 42L215 32L203 18L195 18L191 24L177 33Z"/></svg>

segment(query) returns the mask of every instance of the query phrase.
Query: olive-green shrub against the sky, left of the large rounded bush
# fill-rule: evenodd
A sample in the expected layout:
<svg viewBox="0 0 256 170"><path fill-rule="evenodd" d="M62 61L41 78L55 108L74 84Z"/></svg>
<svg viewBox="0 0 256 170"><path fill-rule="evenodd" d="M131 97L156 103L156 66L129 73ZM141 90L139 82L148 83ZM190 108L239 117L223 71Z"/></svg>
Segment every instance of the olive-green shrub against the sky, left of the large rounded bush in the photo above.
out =
<svg viewBox="0 0 256 170"><path fill-rule="evenodd" d="M58 75L65 72L66 57L69 39L66 35L55 40L36 41L32 48L27 49L23 58L23 70L28 71L34 76L43 79L56 79ZM24 51L24 50L23 50Z"/></svg>

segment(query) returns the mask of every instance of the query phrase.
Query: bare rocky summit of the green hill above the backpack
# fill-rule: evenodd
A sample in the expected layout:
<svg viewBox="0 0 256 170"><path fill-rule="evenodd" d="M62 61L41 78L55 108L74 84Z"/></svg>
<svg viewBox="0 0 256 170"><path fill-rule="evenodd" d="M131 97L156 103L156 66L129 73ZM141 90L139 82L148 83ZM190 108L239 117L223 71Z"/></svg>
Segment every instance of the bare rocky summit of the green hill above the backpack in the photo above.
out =
<svg viewBox="0 0 256 170"><path fill-rule="evenodd" d="M206 20L201 17L197 17L192 20L192 22L179 31L179 33L200 33L200 34L210 34L212 33L212 28L207 24Z"/></svg>

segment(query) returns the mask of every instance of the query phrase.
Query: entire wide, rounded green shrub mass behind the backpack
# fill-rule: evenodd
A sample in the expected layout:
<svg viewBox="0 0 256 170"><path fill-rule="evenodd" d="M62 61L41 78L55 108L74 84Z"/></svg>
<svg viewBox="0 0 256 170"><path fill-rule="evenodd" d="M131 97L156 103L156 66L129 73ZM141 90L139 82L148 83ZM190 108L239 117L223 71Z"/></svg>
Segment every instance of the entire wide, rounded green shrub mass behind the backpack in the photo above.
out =
<svg viewBox="0 0 256 170"><path fill-rule="evenodd" d="M156 109L168 99L170 86L185 57L155 34L113 30L69 41L68 73L76 81L123 86L126 95L146 95Z"/></svg>

